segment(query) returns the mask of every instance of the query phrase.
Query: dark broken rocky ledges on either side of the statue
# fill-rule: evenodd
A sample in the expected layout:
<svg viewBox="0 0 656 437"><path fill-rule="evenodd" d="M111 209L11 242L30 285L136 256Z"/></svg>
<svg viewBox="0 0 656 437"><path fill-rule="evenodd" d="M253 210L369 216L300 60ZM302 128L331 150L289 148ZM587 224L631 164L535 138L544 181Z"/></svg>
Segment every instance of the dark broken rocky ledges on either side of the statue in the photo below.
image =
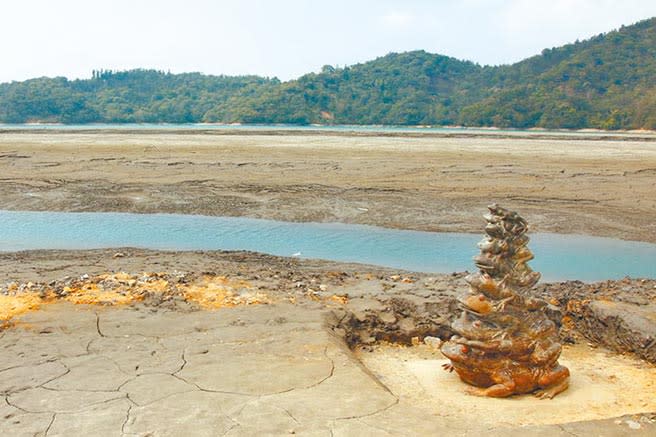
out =
<svg viewBox="0 0 656 437"><path fill-rule="evenodd" d="M384 293L351 299L342 310L333 311L330 323L351 348L382 341L410 345L414 337L423 341L425 336L446 341L454 334L451 321L459 313L458 296L467 290L465 277L464 273L442 275L439 279L418 277L412 288L404 290L383 283ZM543 283L531 293L547 302L544 311L559 328L560 341L601 344L656 363L656 279ZM614 323L606 325L608 320L590 309L595 300L622 304L622 311L612 319ZM408 317L415 322L412 332L404 332L399 324ZM640 322L631 323L630 319Z"/></svg>

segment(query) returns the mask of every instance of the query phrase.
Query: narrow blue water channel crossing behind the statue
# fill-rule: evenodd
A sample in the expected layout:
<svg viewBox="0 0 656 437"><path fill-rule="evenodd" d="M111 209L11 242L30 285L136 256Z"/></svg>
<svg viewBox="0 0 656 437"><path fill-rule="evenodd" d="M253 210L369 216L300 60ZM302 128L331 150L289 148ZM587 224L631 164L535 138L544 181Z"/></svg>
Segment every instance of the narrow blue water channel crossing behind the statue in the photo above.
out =
<svg viewBox="0 0 656 437"><path fill-rule="evenodd" d="M482 234L181 214L0 211L0 250L138 247L250 250L420 272L475 269ZM530 265L545 281L656 278L656 244L538 233Z"/></svg>

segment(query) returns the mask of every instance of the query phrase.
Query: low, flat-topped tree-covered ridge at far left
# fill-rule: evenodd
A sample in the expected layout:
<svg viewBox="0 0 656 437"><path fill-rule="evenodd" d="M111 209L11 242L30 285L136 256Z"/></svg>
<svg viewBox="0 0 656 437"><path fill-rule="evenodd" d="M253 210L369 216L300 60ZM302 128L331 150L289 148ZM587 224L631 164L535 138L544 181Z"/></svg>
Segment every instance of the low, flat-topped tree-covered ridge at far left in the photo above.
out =
<svg viewBox="0 0 656 437"><path fill-rule="evenodd" d="M39 78L0 85L0 121L193 123L231 114L228 100L248 99L278 80L257 76L94 71L92 79Z"/></svg>

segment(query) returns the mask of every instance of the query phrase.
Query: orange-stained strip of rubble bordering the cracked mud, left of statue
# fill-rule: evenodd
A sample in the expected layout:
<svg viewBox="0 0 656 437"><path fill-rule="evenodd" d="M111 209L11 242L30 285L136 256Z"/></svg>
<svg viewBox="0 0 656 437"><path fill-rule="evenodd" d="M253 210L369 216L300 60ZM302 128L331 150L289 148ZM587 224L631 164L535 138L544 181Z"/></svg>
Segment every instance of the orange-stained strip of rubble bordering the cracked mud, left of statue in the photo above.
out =
<svg viewBox="0 0 656 437"><path fill-rule="evenodd" d="M40 254L41 251L35 253ZM11 319L17 315L60 300L103 306L139 303L182 312L300 301L340 307L348 302L348 296L339 292L340 287L359 277L357 272L304 272L290 265L294 263L285 265L281 258L276 257L270 257L272 262L268 268L261 268L259 264L253 266L247 263L253 254L233 255L239 261L243 260L245 265L227 269L229 274L178 270L141 273L110 271L78 273L48 282L0 283L0 328L9 326ZM114 260L117 257L114 254L111 258Z"/></svg>

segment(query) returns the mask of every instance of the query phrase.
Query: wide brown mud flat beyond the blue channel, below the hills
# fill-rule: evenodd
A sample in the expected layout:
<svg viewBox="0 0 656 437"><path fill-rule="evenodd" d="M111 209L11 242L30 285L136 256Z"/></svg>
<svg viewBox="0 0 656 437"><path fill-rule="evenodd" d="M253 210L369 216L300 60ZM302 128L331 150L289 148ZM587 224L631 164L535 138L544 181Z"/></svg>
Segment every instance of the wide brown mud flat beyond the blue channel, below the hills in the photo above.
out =
<svg viewBox="0 0 656 437"><path fill-rule="evenodd" d="M534 231L656 242L656 140L0 133L0 205L480 232L492 201Z"/></svg>

